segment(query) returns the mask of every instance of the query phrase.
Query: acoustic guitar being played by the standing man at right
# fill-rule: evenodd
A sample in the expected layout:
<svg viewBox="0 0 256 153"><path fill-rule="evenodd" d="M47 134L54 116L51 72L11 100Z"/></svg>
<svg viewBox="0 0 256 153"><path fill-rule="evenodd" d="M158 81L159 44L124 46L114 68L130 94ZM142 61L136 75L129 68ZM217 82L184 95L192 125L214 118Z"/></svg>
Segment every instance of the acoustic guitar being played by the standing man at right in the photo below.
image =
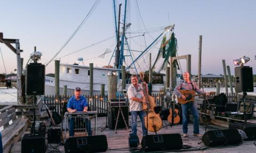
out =
<svg viewBox="0 0 256 153"><path fill-rule="evenodd" d="M186 97L185 100L183 100L180 97L177 97L178 102L180 104L187 104L189 101L194 101L195 100L195 96L202 96L202 95L206 95L206 94L196 94L195 90L179 90L180 93L182 95L184 95ZM210 95L215 95L215 92L210 92Z"/></svg>

